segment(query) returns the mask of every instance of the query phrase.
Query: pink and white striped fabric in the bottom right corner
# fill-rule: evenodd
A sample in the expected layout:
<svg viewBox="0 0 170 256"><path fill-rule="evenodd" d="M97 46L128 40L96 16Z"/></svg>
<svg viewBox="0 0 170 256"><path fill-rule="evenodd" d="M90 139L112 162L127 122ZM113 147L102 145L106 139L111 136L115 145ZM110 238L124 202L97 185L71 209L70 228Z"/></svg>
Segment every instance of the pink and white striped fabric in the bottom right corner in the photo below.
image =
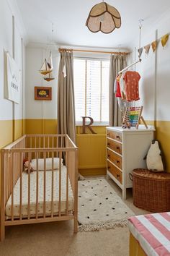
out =
<svg viewBox="0 0 170 256"><path fill-rule="evenodd" d="M128 219L130 232L148 256L170 256L170 212Z"/></svg>

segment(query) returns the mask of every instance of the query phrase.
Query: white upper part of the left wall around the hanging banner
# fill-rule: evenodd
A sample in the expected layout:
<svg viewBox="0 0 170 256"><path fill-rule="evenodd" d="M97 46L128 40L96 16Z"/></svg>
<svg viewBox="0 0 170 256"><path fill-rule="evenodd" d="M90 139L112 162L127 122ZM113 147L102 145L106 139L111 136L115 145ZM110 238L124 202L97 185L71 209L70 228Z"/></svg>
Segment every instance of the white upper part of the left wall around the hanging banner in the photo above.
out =
<svg viewBox="0 0 170 256"><path fill-rule="evenodd" d="M19 9L15 0L1 0L0 9L0 120L13 119L12 102L4 99L4 52L9 51L13 56L13 30L12 16L14 16L14 59L17 62L19 69L22 70L24 64L24 46L22 49L22 38L25 38L25 30L22 24L22 18L19 14ZM23 50L23 51L22 51ZM22 83L22 89L24 85ZM22 90L21 90L22 91ZM14 119L22 119L23 113L23 97L21 95L21 103L14 104Z"/></svg>

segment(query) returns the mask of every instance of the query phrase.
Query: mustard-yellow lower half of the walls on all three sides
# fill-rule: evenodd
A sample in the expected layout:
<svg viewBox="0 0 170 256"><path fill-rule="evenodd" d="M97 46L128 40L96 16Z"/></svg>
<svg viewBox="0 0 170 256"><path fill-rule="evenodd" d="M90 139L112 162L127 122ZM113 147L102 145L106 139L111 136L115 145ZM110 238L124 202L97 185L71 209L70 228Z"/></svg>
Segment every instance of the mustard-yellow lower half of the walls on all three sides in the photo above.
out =
<svg viewBox="0 0 170 256"><path fill-rule="evenodd" d="M161 143L166 159L166 171L170 172L170 121L147 121L155 124L156 140ZM76 127L79 147L79 169L83 175L106 173L106 127L93 127L97 135L81 135L81 127ZM23 134L55 134L56 119L25 119L0 121L0 149Z"/></svg>

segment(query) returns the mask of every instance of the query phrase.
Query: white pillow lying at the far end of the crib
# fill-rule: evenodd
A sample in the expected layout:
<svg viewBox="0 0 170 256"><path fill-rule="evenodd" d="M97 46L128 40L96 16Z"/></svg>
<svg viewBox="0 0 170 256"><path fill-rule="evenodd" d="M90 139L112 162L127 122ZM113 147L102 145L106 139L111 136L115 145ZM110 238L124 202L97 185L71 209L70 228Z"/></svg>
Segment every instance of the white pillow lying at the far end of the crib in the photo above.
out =
<svg viewBox="0 0 170 256"><path fill-rule="evenodd" d="M60 158L53 158L53 168L54 170L59 169ZM37 159L32 159L31 161L32 168L37 170ZM63 166L63 159L61 159L61 166ZM44 158L38 158L38 170L44 170ZM52 158L46 158L46 171L52 170Z"/></svg>

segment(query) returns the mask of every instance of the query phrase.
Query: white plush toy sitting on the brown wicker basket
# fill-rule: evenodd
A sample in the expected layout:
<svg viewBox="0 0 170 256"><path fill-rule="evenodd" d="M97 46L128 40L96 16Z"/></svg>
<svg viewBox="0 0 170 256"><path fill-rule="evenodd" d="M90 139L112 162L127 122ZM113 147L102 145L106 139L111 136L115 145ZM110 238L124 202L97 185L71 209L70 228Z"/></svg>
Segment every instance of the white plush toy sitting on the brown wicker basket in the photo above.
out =
<svg viewBox="0 0 170 256"><path fill-rule="evenodd" d="M147 168L151 171L164 171L161 150L157 140L153 140L146 155Z"/></svg>

